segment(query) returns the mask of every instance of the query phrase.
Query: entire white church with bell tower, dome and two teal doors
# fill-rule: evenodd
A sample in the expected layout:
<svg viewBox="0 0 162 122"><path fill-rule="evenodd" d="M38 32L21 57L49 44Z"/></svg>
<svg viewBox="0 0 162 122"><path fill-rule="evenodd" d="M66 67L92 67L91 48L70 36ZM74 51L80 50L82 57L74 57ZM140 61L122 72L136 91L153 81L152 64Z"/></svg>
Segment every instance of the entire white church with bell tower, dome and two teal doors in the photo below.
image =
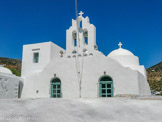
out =
<svg viewBox="0 0 162 122"><path fill-rule="evenodd" d="M96 45L96 27L79 13L66 30L66 50L45 42L23 46L22 98L97 98L151 95L146 70L132 52L105 56Z"/></svg>

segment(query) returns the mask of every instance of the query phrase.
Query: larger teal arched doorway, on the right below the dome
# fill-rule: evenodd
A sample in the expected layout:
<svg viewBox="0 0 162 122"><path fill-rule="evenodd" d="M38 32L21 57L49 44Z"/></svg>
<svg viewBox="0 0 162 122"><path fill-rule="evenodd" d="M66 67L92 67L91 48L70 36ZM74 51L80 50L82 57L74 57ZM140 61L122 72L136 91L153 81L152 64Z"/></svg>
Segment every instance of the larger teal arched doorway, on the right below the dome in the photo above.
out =
<svg viewBox="0 0 162 122"><path fill-rule="evenodd" d="M99 97L113 97L113 80L109 76L99 79Z"/></svg>

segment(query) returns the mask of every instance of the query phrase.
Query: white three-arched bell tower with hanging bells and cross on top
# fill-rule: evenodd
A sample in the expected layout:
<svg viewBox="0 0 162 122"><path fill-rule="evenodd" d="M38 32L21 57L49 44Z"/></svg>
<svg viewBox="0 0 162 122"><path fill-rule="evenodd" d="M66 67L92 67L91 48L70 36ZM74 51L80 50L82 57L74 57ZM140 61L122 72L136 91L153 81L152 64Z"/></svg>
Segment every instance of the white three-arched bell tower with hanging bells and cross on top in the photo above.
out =
<svg viewBox="0 0 162 122"><path fill-rule="evenodd" d="M72 19L72 26L66 30L66 52L68 54L78 50L93 52L96 47L96 27L90 24L88 17L79 13L76 20Z"/></svg>

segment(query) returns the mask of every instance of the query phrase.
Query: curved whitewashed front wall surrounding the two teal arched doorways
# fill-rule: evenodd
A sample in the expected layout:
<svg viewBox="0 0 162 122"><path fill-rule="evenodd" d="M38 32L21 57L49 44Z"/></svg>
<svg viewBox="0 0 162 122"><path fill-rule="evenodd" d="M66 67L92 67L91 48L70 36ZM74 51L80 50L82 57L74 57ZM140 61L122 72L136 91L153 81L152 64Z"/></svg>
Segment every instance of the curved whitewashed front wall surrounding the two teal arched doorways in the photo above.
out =
<svg viewBox="0 0 162 122"><path fill-rule="evenodd" d="M100 53L96 56L85 57L84 62L82 97L98 97L98 80L104 75L104 72L113 79L114 95L140 95L140 89L148 89L145 85L146 82L143 80L140 80L140 82L143 82L144 85L140 84L141 87L139 87L138 71L125 68L115 60L107 59ZM50 97L50 81L54 78L54 74L62 82L63 98L79 97L75 58L67 58L66 56L52 60L42 72L28 77L23 96L33 98ZM39 90L39 93L36 93L37 90ZM142 92L143 94L148 95L150 93Z"/></svg>

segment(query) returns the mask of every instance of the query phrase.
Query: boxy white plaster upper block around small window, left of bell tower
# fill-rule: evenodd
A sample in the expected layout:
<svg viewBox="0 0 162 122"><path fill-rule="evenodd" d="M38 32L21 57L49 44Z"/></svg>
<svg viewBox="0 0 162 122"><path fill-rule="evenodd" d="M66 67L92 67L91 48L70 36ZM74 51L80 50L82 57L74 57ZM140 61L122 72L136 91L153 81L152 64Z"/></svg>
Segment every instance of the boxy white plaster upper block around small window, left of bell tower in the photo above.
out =
<svg viewBox="0 0 162 122"><path fill-rule="evenodd" d="M55 57L60 54L59 51L64 51L61 47L52 42L44 42L37 44L29 44L23 46L22 58L22 77L29 76L34 72L41 72L43 68ZM33 62L33 53L39 53L39 62Z"/></svg>

